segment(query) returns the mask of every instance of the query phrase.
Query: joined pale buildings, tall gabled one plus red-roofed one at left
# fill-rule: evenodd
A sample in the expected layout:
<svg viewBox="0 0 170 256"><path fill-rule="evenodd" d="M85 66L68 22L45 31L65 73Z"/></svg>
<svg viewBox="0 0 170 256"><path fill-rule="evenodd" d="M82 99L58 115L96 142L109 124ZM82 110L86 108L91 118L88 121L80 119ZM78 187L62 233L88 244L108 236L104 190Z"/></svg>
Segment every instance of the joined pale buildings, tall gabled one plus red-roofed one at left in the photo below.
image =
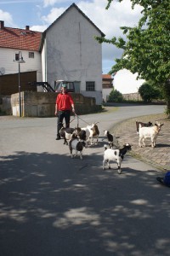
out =
<svg viewBox="0 0 170 256"><path fill-rule="evenodd" d="M31 31L29 26L26 30L4 27L0 21L0 70L3 67L5 73L17 73L14 60L22 51L26 63L20 65L20 72L36 70L37 81L48 82L52 87L58 79L76 81L77 91L95 97L100 105L102 46L95 36L105 34L75 3L42 33Z"/></svg>

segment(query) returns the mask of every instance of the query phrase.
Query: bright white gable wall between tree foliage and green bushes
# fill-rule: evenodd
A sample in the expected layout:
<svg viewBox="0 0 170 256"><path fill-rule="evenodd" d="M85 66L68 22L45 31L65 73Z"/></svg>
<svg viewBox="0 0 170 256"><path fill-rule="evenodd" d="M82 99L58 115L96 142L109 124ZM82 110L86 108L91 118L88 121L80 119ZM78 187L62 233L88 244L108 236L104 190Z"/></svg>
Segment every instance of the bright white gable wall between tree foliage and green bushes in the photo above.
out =
<svg viewBox="0 0 170 256"><path fill-rule="evenodd" d="M127 69L122 69L118 71L114 77L114 88L123 94L138 92L144 80L137 80L136 78L137 74L133 74Z"/></svg>

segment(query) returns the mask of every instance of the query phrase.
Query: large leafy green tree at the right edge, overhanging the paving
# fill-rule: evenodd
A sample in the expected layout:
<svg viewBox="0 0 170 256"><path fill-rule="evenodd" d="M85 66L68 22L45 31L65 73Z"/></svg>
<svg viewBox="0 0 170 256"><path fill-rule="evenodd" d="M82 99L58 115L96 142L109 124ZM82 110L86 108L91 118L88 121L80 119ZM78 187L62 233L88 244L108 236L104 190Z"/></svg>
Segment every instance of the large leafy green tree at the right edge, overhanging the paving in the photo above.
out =
<svg viewBox="0 0 170 256"><path fill-rule="evenodd" d="M119 2L126 0L119 0ZM114 0L108 0L108 9ZM170 1L169 0L131 0L143 7L142 18L138 26L121 27L127 40L113 37L97 38L123 49L123 55L116 59L116 65L110 73L127 68L132 73L139 73L140 79L161 88L167 102L167 117L170 118Z"/></svg>

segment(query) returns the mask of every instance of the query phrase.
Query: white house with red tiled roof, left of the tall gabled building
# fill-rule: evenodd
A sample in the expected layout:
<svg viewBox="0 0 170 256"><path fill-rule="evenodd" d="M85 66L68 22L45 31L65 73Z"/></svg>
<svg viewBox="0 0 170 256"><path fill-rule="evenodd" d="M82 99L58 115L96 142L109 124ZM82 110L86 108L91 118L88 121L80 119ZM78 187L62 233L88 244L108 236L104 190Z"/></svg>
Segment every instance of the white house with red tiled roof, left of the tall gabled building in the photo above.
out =
<svg viewBox="0 0 170 256"><path fill-rule="evenodd" d="M25 63L20 65L20 72L37 71L37 80L42 81L42 61L39 51L42 32L5 27L0 20L0 75L18 73L19 51Z"/></svg>

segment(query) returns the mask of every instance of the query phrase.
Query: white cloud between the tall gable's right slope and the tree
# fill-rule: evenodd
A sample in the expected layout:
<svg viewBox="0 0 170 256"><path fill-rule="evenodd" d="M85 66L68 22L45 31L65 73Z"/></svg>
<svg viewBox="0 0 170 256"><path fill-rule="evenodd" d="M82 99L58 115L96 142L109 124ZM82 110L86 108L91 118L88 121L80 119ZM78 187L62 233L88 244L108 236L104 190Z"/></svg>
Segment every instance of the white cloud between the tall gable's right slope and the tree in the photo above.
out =
<svg viewBox="0 0 170 256"><path fill-rule="evenodd" d="M107 10L106 4L106 1L101 0L77 3L82 12L105 33L106 38L122 36L120 26L135 26L138 23L142 9L137 6L132 10L130 0L122 1L122 3L114 1Z"/></svg>

